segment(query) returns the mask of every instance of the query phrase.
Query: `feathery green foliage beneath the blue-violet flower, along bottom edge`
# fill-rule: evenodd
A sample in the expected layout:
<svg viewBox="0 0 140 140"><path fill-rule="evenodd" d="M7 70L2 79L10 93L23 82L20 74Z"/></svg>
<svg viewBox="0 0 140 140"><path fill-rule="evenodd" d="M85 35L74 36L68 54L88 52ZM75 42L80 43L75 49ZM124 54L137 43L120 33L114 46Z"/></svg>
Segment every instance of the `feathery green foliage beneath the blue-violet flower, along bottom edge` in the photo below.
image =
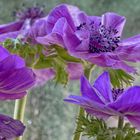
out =
<svg viewBox="0 0 140 140"><path fill-rule="evenodd" d="M76 132L82 132L83 136L94 138L94 140L139 140L140 132L126 123L122 129L108 127L104 120L92 117L81 116L81 128Z"/></svg>

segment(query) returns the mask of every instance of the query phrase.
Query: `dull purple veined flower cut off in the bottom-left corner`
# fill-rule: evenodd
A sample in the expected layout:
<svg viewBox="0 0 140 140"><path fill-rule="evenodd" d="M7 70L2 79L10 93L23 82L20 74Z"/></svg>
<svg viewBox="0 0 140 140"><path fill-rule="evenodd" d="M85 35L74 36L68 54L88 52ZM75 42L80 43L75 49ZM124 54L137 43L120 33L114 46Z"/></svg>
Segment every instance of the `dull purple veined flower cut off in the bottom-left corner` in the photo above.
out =
<svg viewBox="0 0 140 140"><path fill-rule="evenodd" d="M13 118L0 114L0 140L11 140L23 135L25 126Z"/></svg>

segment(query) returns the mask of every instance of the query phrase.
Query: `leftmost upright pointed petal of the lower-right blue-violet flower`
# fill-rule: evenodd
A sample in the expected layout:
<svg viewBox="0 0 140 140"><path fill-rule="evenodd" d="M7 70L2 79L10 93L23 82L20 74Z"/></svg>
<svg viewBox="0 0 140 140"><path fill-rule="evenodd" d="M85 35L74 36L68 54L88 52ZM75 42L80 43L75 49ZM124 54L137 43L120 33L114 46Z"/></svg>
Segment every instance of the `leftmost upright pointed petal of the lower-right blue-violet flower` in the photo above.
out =
<svg viewBox="0 0 140 140"><path fill-rule="evenodd" d="M81 93L82 96L103 104L102 100L100 99L100 97L98 97L89 81L85 77L81 77Z"/></svg>

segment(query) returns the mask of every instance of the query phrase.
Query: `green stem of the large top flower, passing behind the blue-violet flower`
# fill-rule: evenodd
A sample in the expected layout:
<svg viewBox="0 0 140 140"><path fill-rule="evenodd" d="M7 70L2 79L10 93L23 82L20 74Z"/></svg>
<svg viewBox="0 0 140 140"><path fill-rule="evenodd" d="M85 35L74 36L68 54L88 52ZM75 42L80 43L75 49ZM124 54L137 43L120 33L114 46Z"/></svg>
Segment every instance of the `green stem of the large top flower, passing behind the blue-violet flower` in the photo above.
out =
<svg viewBox="0 0 140 140"><path fill-rule="evenodd" d="M84 75L86 76L87 79L90 79L92 68L93 68L93 66L88 66L84 70ZM80 116L84 116L84 115L85 115L84 109L80 107L79 113L78 113L78 118L80 118ZM76 129L75 129L75 133L73 136L73 140L81 140L81 132L78 132L78 130L80 128L81 128L81 122L78 120Z"/></svg>

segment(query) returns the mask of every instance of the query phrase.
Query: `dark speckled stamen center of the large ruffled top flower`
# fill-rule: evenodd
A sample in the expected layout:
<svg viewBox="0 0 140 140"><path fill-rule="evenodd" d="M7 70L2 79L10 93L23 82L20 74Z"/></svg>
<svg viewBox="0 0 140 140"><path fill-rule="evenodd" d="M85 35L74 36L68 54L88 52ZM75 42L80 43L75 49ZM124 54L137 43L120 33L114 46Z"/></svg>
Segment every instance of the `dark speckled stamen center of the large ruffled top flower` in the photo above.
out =
<svg viewBox="0 0 140 140"><path fill-rule="evenodd" d="M89 25L83 23L77 27L77 30L83 29L87 29L90 32L90 53L112 52L118 47L120 36L116 36L118 33L116 29L106 28L101 23L95 25L94 22Z"/></svg>

